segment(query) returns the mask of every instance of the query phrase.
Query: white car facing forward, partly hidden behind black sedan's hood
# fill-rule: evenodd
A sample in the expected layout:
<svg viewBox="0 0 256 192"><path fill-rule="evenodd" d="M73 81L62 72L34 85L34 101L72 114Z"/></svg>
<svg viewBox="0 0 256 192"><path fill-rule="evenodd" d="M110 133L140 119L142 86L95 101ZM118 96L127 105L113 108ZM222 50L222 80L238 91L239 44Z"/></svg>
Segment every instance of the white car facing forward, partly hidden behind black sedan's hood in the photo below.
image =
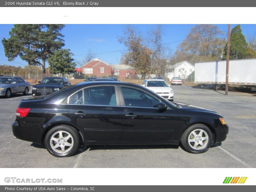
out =
<svg viewBox="0 0 256 192"><path fill-rule="evenodd" d="M146 79L141 86L148 88L167 100L173 101L174 92L163 79Z"/></svg>

